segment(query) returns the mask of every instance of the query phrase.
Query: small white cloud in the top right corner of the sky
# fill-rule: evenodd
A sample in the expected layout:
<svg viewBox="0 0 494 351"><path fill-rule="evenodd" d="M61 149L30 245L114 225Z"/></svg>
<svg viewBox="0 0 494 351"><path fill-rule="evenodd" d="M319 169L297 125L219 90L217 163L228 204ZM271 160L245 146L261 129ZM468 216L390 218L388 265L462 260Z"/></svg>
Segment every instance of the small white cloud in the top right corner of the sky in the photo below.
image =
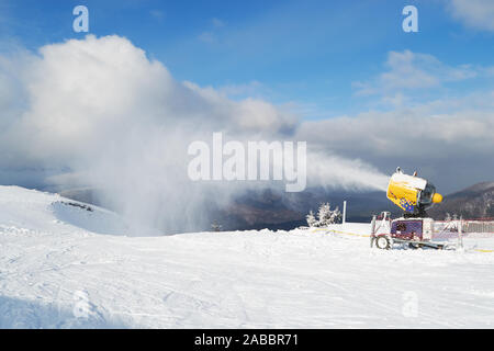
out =
<svg viewBox="0 0 494 351"><path fill-rule="evenodd" d="M494 32L494 1L447 0L453 18L467 26Z"/></svg>

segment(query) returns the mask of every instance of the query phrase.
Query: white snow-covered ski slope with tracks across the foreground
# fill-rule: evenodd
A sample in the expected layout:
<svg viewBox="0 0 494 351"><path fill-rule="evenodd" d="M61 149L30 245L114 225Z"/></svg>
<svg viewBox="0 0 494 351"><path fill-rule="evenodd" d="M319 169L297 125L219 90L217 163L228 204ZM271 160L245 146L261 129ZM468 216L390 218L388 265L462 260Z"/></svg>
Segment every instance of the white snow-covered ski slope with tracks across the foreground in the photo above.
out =
<svg viewBox="0 0 494 351"><path fill-rule="evenodd" d="M368 224L136 237L75 203L0 186L0 328L494 327L492 252L370 249Z"/></svg>

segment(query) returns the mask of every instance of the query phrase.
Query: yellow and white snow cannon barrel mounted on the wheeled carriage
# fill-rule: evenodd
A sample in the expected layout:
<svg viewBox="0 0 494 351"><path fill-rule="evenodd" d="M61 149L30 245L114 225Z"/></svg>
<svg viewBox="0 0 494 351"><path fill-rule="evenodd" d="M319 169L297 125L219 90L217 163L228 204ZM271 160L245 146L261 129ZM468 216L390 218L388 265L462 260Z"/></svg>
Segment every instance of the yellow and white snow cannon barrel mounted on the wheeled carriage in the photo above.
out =
<svg viewBox="0 0 494 351"><path fill-rule="evenodd" d="M405 174L400 167L391 176L386 196L405 211L407 217L425 217L427 208L442 202L442 195L436 192L436 186L417 177L417 172Z"/></svg>

